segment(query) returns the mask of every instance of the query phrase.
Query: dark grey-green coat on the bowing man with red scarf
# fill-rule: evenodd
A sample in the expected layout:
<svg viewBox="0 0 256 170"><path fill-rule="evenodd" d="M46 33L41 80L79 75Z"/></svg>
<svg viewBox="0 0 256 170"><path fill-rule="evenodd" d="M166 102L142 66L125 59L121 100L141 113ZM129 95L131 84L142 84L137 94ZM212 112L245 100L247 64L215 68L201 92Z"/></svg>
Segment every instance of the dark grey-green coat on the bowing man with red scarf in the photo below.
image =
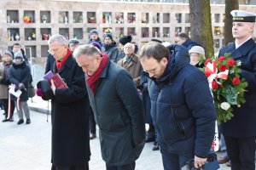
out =
<svg viewBox="0 0 256 170"><path fill-rule="evenodd" d="M113 166L136 161L143 150L145 122L143 103L129 72L108 60L95 94L88 85L87 90L100 128L103 160ZM134 141L142 144L135 146Z"/></svg>

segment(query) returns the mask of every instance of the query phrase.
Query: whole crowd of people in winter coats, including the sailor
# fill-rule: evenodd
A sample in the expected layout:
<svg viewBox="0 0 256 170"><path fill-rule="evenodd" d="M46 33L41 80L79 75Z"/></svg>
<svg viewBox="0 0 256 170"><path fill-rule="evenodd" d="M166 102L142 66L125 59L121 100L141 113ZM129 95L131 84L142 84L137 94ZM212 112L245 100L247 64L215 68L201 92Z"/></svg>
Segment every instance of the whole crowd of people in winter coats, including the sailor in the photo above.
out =
<svg viewBox="0 0 256 170"><path fill-rule="evenodd" d="M234 108L234 117L219 126L223 156L212 148L217 113L204 66L205 49L186 33L177 44L152 39L138 48L131 36L119 39L111 33L91 30L87 44L61 35L49 38L45 74L58 73L67 88L55 82L38 82L45 100L51 100L52 170L88 170L90 139L96 125L102 159L107 170L134 170L145 143L154 142L166 170L183 168L217 170L228 163L232 170L255 169L256 137L256 14L232 11L235 42L218 56L231 53L241 60L241 77L248 83L246 103ZM0 63L0 99L5 119L12 122L15 107L19 122L31 123L26 104L31 80L26 55L15 44ZM9 94L15 85L20 97ZM148 123L148 132L145 131ZM189 167L190 166L190 167ZM193 167L193 168L192 168Z"/></svg>

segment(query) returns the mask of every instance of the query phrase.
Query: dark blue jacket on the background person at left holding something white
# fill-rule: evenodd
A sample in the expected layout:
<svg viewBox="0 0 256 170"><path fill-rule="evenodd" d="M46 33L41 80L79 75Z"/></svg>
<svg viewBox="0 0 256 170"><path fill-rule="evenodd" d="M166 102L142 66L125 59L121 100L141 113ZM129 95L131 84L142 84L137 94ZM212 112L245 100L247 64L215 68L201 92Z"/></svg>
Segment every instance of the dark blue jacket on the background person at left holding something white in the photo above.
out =
<svg viewBox="0 0 256 170"><path fill-rule="evenodd" d="M17 65L13 63L8 70L9 81L18 88L20 83L23 83L25 88L21 89L20 101L28 100L28 84L31 77L30 67L26 65L26 61ZM14 95L11 95L11 99L16 100Z"/></svg>

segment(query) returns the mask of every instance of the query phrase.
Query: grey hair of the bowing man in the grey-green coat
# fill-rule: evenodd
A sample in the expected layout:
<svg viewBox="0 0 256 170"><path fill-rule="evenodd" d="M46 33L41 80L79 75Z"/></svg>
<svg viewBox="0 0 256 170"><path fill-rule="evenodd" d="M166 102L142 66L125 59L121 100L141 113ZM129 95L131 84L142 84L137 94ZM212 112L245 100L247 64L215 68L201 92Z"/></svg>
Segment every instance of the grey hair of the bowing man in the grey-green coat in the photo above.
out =
<svg viewBox="0 0 256 170"><path fill-rule="evenodd" d="M91 44L79 45L73 52L73 57L78 58L80 55L86 55L89 57L94 57L97 54L101 54L98 48Z"/></svg>

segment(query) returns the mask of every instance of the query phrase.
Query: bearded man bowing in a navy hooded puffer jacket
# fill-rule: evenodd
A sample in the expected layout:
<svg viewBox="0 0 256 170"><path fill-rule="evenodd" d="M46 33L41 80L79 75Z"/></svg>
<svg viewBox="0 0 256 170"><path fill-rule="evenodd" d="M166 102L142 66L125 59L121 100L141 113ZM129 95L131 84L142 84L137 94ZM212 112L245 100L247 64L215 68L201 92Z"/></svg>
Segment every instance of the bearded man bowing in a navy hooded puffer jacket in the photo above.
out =
<svg viewBox="0 0 256 170"><path fill-rule="evenodd" d="M170 55L169 49L175 54ZM189 52L180 45L158 42L143 46L140 60L148 72L151 116L157 131L164 168L181 169L194 159L202 167L211 148L216 110L207 77L189 64Z"/></svg>

